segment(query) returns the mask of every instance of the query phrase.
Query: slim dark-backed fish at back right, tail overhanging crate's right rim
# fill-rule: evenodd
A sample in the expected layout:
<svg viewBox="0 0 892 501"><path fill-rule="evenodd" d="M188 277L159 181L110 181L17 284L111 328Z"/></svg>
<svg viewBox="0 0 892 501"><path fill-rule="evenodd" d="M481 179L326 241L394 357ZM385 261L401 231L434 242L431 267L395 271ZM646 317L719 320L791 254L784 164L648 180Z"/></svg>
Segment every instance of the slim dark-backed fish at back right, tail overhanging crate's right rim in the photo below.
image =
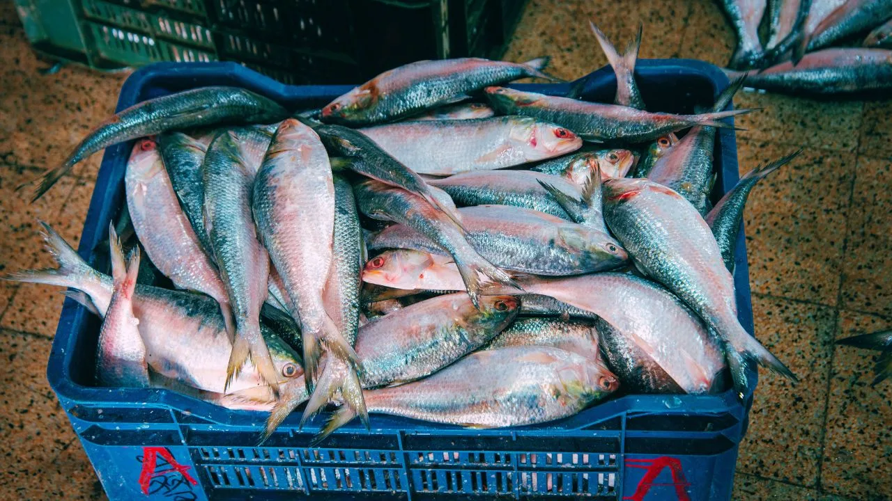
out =
<svg viewBox="0 0 892 501"><path fill-rule="evenodd" d="M695 125L731 128L721 119L750 110L720 111L700 115L649 113L615 104L589 103L556 95L523 92L507 87L486 87L486 97L496 111L524 115L566 127L586 141L623 140L643 143L669 132Z"/></svg>

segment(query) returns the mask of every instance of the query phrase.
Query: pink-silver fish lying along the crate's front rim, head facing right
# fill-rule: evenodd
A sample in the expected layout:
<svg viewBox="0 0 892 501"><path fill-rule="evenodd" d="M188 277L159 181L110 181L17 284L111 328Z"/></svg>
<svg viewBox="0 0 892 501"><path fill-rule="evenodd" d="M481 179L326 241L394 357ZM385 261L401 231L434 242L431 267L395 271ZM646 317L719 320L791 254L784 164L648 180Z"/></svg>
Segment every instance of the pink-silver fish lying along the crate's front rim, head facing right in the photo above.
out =
<svg viewBox="0 0 892 501"><path fill-rule="evenodd" d="M598 362L563 349L519 346L478 351L421 381L364 393L370 413L485 429L574 415L619 386ZM338 408L313 445L353 416Z"/></svg>

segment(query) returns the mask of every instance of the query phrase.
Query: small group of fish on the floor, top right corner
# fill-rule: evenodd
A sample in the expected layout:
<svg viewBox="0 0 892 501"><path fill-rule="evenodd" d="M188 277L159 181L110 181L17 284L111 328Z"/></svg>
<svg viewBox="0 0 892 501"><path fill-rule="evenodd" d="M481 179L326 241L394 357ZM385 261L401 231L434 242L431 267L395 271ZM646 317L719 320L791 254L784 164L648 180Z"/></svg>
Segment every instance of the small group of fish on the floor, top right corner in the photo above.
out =
<svg viewBox="0 0 892 501"><path fill-rule="evenodd" d="M808 94L892 89L892 0L722 4L737 35L729 66L739 71L729 73L747 75L747 86Z"/></svg>

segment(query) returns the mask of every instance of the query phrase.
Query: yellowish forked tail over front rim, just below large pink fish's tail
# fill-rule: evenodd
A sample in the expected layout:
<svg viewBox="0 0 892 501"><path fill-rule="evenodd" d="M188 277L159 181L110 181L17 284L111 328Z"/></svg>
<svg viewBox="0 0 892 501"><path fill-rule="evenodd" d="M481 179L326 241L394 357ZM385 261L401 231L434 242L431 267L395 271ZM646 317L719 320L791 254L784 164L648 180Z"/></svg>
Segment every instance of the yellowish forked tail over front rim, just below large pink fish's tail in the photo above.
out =
<svg viewBox="0 0 892 501"><path fill-rule="evenodd" d="M329 358L326 360L326 366L322 369L316 382L316 389L307 402L307 407L303 410L301 416L301 428L317 415L320 410L328 402L331 402L336 395L340 394L343 398L344 405L351 407L356 415L365 423L368 428L368 412L366 410L366 401L362 397L362 386L359 384L359 376L351 365L344 363L339 358Z"/></svg>

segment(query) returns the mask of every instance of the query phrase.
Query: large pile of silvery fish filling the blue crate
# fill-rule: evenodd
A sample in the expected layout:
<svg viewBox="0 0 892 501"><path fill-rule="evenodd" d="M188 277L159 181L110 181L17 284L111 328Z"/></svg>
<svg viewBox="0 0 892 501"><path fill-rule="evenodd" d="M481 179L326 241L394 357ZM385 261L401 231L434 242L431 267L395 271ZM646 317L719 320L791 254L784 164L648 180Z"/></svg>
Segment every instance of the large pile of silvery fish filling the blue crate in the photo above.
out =
<svg viewBox="0 0 892 501"><path fill-rule="evenodd" d="M235 87L136 104L37 191L136 139L111 276L44 225L59 267L6 278L103 316L98 384L268 411L264 437L303 403L301 425L338 406L321 439L370 413L486 428L618 392L742 398L756 364L795 380L731 278L748 193L795 153L709 198L742 82L697 115L646 111L634 53L611 57L615 103L500 86L546 62L416 62L296 114Z"/></svg>

